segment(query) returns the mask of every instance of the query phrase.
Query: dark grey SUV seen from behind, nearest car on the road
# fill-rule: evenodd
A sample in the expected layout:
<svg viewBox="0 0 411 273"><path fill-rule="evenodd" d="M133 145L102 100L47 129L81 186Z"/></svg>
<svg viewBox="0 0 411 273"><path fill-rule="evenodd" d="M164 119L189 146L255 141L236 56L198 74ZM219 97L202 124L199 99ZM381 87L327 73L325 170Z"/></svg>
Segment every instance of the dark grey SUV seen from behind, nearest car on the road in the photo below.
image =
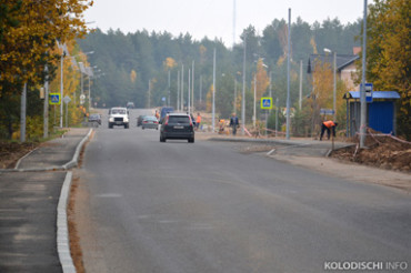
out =
<svg viewBox="0 0 411 273"><path fill-rule="evenodd" d="M190 115L184 113L166 115L161 121L160 142L166 142L168 139L194 142L194 127Z"/></svg>

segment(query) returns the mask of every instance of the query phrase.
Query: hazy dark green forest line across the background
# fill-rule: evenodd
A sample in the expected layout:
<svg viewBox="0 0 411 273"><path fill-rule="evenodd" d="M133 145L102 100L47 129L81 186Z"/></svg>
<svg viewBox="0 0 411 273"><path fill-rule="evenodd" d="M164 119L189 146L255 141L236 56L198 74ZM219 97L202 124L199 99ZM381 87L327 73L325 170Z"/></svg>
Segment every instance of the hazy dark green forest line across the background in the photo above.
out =
<svg viewBox="0 0 411 273"><path fill-rule="evenodd" d="M228 117L234 109L234 89L242 89L243 44L245 41L245 89L252 98L253 74L258 72L258 62L262 60L267 71L264 78L258 79L258 92L268 92L268 78L271 75L271 90L279 98L280 105L285 104L285 57L287 28L284 20L273 20L262 33L253 26L242 31L241 41L228 48L221 40L203 38L194 40L189 33L173 37L169 32L151 32L147 30L134 33L123 33L120 30L109 30L107 33L97 29L84 40L79 40L83 51L93 50L90 62L97 64L104 75L93 81L94 101L99 105L124 105L133 101L138 107L168 103L170 71L170 104L177 107L178 73L184 68L184 92L188 99L189 69L194 70L194 105L207 108L207 94L212 85L213 50L217 51L217 112ZM334 49L339 53L352 53L360 42L361 22L342 24L339 19L328 19L322 23L309 24L298 18L291 26L291 65L292 65L292 102L297 102L299 89L299 65L303 61L304 94L310 92L307 79L307 61L310 53L322 52L323 48ZM172 64L168 60L172 60ZM201 78L201 82L200 82ZM192 80L192 79L191 79ZM235 83L237 82L237 83ZM238 92L240 94L240 92ZM260 95L261 97L261 95ZM200 103L201 101L201 103ZM248 101L247 118L251 119L252 99ZM251 102L251 105L250 103ZM187 104L187 101L184 102Z"/></svg>

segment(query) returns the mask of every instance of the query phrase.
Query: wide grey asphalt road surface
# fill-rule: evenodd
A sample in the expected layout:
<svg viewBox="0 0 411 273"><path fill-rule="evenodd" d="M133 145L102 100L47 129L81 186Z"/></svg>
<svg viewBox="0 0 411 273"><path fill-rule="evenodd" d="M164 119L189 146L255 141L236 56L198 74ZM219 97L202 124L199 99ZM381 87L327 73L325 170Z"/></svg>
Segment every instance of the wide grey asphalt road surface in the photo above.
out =
<svg viewBox="0 0 411 273"><path fill-rule="evenodd" d="M136 128L138 113L128 130L103 122L87 146L87 272L322 272L327 262L410 270L407 193L241 153L239 143L160 143L159 131Z"/></svg>

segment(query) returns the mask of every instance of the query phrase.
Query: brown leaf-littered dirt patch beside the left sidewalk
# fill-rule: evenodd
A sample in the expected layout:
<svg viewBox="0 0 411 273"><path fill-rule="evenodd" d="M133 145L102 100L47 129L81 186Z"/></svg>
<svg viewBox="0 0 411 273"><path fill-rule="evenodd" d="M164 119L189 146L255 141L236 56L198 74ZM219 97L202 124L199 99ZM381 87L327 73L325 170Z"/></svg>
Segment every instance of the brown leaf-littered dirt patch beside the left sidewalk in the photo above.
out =
<svg viewBox="0 0 411 273"><path fill-rule="evenodd" d="M39 144L40 142L0 141L0 169L13 169L19 159L34 150Z"/></svg>

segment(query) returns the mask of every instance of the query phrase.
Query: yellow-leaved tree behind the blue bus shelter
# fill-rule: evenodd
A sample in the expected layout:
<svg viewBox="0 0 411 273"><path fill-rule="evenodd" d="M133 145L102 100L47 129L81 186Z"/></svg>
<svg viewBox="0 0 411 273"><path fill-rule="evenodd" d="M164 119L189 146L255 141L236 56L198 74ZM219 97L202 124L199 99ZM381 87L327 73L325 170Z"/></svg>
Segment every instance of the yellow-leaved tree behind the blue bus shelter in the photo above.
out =
<svg viewBox="0 0 411 273"><path fill-rule="evenodd" d="M401 95L398 133L411 139L411 1L375 0L368 17L367 81Z"/></svg>

